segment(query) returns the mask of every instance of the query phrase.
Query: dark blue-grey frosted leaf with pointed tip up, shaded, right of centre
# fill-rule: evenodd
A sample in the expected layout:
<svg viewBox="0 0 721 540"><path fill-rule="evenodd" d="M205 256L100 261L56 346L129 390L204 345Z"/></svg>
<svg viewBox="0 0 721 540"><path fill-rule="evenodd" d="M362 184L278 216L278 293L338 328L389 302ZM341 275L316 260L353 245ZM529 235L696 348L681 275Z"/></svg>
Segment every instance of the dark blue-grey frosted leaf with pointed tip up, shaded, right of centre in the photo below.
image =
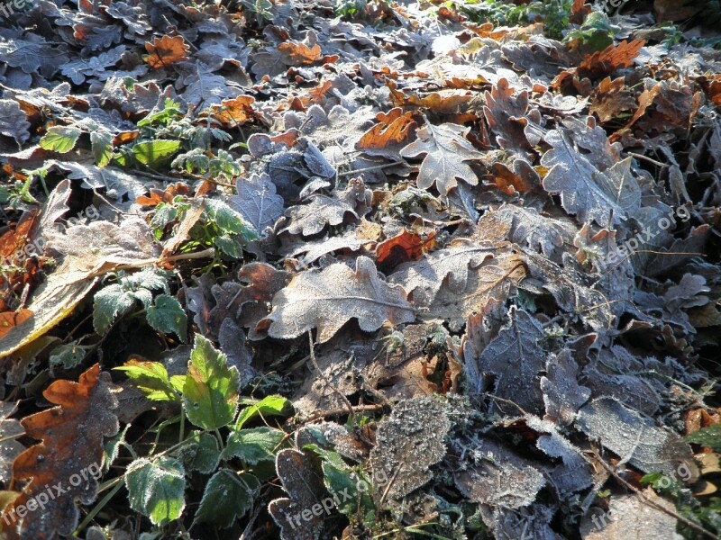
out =
<svg viewBox="0 0 721 540"><path fill-rule="evenodd" d="M538 342L543 327L526 311L512 309L509 325L483 349L478 359L479 371L493 374L493 394L513 401L527 412L543 409L543 394L538 374L545 368L546 353ZM474 389L481 392L482 389ZM517 413L511 405L498 405L502 410Z"/></svg>

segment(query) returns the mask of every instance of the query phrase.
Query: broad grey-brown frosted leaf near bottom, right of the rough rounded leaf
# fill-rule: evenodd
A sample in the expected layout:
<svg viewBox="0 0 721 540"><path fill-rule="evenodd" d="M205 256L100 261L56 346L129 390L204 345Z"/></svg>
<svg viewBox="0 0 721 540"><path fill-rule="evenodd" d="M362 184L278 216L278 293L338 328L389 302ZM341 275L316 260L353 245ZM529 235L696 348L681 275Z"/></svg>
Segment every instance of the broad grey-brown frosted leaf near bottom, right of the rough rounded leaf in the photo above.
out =
<svg viewBox="0 0 721 540"><path fill-rule="evenodd" d="M546 484L542 471L506 446L480 438L473 451L482 456L480 464L454 475L458 489L473 502L517 509L533 503Z"/></svg>

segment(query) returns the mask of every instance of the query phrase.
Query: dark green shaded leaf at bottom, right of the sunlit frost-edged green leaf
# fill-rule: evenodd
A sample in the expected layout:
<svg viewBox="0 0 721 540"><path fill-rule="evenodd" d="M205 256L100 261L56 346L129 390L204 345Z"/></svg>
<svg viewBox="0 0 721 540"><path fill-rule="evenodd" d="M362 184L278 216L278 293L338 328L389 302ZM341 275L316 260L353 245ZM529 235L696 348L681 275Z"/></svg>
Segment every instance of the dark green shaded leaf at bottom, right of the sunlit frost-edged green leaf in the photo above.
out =
<svg viewBox="0 0 721 540"><path fill-rule="evenodd" d="M228 469L221 469L205 485L203 499L196 512L196 523L214 523L231 527L251 509L253 490L248 483Z"/></svg>

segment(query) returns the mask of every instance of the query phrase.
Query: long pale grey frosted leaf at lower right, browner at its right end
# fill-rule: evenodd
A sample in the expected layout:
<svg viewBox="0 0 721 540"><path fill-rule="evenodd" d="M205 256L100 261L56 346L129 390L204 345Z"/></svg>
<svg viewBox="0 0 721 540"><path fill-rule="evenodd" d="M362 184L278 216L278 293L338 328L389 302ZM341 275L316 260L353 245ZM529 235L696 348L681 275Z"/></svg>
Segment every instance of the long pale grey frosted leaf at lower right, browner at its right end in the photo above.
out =
<svg viewBox="0 0 721 540"><path fill-rule="evenodd" d="M693 465L690 446L653 420L642 417L614 398L598 398L584 405L576 423L586 435L643 473L673 476L679 462Z"/></svg>

